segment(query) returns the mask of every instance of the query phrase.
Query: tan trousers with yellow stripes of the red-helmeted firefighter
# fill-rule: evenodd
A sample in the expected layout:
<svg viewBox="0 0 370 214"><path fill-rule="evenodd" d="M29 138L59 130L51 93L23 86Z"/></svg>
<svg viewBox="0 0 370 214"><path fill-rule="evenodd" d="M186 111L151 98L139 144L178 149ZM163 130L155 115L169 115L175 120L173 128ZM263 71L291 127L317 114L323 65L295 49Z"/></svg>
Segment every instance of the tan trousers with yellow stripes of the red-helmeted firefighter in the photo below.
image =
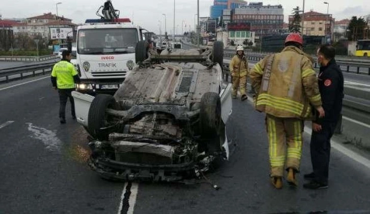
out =
<svg viewBox="0 0 370 214"><path fill-rule="evenodd" d="M301 119L266 115L271 176L282 177L284 167L299 171L303 126L304 121Z"/></svg>

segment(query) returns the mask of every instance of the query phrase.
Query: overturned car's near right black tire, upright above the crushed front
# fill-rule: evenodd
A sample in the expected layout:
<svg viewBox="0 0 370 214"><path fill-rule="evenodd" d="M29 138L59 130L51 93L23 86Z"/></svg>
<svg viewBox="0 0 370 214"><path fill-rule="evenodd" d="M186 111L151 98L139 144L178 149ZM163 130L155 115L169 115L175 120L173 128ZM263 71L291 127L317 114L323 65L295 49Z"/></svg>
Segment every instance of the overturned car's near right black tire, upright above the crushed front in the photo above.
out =
<svg viewBox="0 0 370 214"><path fill-rule="evenodd" d="M207 92L200 101L200 131L202 137L215 137L220 133L221 99L217 93Z"/></svg>

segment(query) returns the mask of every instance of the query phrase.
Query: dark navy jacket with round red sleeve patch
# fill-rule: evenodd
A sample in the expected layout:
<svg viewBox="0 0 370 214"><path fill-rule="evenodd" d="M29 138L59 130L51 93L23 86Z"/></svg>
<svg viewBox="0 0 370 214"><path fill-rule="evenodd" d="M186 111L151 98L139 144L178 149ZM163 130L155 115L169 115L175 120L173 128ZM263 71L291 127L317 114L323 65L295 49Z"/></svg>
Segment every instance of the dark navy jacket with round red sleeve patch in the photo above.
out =
<svg viewBox="0 0 370 214"><path fill-rule="evenodd" d="M342 110L344 80L335 59L332 59L327 66L320 67L318 80L325 117L316 117L315 123L337 123Z"/></svg>

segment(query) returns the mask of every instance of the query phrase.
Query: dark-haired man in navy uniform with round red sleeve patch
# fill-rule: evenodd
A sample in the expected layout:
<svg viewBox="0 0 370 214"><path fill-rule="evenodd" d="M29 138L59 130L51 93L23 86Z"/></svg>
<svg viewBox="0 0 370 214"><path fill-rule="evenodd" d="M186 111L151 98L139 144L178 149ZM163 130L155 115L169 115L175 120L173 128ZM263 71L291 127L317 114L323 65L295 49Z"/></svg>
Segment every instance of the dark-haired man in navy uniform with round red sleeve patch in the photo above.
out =
<svg viewBox="0 0 370 214"><path fill-rule="evenodd" d="M344 96L343 74L334 59L335 48L322 45L317 55L321 65L318 79L325 117L312 121L310 149L313 172L304 175L304 178L311 180L303 185L307 189L328 188L330 139L340 117Z"/></svg>

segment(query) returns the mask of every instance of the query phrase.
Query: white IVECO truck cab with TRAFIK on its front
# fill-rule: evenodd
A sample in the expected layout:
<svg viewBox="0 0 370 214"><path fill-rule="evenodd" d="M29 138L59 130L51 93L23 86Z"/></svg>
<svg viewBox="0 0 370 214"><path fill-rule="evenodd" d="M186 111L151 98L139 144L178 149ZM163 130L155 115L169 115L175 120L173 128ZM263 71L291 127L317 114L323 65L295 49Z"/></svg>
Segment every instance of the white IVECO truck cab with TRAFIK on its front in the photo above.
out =
<svg viewBox="0 0 370 214"><path fill-rule="evenodd" d="M77 91L112 94L135 67L135 47L142 28L128 18L88 19L77 28Z"/></svg>

